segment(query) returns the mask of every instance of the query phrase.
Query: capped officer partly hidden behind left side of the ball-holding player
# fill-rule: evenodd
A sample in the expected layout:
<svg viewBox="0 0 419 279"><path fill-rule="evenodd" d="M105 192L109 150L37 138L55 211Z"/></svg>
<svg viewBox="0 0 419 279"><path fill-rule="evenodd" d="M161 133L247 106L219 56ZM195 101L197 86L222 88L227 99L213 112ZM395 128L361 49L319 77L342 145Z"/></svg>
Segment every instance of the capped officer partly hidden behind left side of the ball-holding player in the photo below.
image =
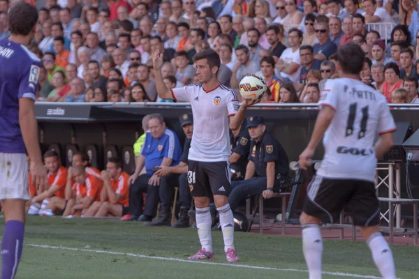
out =
<svg viewBox="0 0 419 279"><path fill-rule="evenodd" d="M192 196L191 190L189 190L188 180L186 174L188 172L188 155L189 148L191 147L192 132L193 132L193 118L192 114L182 114L179 117L180 126L184 130L186 140L184 143L183 153L180 157L179 165L173 167L164 167L160 166L159 170L156 172L156 175L160 177L167 176L169 174L180 174L177 185L166 185L169 187L167 190L163 190L160 193L160 198L163 199L172 199L173 196L169 195L172 193L172 188L179 187L179 202L180 202L180 211L179 218L176 223L172 224L172 227L189 227L189 217L188 210L191 207ZM153 224L154 225L154 224Z"/></svg>

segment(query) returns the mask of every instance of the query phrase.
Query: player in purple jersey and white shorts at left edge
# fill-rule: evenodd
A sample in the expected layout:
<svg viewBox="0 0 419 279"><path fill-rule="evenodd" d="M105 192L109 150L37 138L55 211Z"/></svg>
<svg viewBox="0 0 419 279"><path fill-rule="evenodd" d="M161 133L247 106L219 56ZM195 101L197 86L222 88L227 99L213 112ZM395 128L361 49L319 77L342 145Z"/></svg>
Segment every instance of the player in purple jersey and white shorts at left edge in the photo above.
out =
<svg viewBox="0 0 419 279"><path fill-rule="evenodd" d="M1 241L1 279L14 278L22 255L25 204L29 197L25 147L32 182L45 190L47 172L34 114L41 61L26 45L34 39L38 11L17 3L8 13L10 37L0 40L0 200L6 224Z"/></svg>

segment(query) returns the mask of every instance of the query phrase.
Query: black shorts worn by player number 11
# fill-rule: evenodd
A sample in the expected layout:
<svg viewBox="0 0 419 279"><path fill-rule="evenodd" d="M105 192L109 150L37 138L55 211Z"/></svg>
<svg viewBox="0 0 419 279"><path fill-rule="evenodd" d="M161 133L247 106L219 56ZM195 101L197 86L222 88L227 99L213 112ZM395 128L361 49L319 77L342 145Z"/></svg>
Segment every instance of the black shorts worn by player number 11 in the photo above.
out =
<svg viewBox="0 0 419 279"><path fill-rule="evenodd" d="M302 211L323 223L339 222L342 209L350 213L353 225L370 227L380 221L380 207L374 183L352 179L313 177L307 187Z"/></svg>

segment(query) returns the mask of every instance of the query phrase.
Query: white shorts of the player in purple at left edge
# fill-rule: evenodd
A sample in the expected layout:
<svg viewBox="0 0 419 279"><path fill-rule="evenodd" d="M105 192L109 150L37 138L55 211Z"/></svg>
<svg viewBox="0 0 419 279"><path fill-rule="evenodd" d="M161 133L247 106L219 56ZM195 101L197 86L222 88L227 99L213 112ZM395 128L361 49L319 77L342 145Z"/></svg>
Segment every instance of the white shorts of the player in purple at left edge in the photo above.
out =
<svg viewBox="0 0 419 279"><path fill-rule="evenodd" d="M24 153L0 152L0 200L3 199L30 199Z"/></svg>

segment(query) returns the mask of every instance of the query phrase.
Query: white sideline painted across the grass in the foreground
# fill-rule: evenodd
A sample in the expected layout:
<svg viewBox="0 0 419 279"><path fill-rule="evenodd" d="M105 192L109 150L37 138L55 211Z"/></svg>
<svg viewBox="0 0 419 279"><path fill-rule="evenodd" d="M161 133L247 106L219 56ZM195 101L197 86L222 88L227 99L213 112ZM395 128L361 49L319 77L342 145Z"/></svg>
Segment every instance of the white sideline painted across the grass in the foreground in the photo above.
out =
<svg viewBox="0 0 419 279"><path fill-rule="evenodd" d="M273 271L293 271L293 272L304 272L307 273L307 270L302 269L277 269L274 267L265 267L265 266L248 266L245 264L223 264L221 262L203 262L203 261L192 261L189 259L177 259L175 257L154 257L154 256L147 256L147 255L140 255L140 254L133 254L133 253L124 253L124 252L113 252L113 251L104 251L104 250L91 250L91 249L80 249L80 248L70 248L70 247L62 247L62 246L49 246L49 245L38 245L38 244L26 244L26 246L36 247L36 248L47 248L47 249L60 249L60 250L70 250L70 251L79 251L79 252L94 252L98 254L108 254L108 255L122 255L128 257L140 257L145 259L161 259L164 261L171 261L171 262L188 262L193 264L213 264L216 266L234 266L234 267L242 267L245 269L263 269L263 270L273 270ZM330 272L330 271L323 271L323 274L328 274L332 276L344 276L344 277L351 277L351 278L372 278L372 279L381 279L381 277L377 276L365 276L359 274L351 274L351 273L343 273L343 272Z"/></svg>

